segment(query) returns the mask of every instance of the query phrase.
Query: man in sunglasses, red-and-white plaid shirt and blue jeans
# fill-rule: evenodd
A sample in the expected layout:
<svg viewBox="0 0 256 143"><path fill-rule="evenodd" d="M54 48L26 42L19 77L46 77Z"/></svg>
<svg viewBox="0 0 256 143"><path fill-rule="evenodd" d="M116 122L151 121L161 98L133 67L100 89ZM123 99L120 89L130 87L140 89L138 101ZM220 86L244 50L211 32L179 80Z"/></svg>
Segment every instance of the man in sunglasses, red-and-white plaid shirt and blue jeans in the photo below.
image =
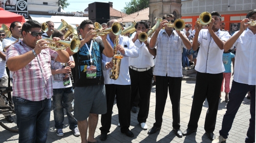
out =
<svg viewBox="0 0 256 143"><path fill-rule="evenodd" d="M69 61L65 50L49 49L48 42L40 40L41 34L40 23L28 20L22 28L23 39L6 51L7 66L15 73L12 99L19 142L46 142L52 98L51 59Z"/></svg>

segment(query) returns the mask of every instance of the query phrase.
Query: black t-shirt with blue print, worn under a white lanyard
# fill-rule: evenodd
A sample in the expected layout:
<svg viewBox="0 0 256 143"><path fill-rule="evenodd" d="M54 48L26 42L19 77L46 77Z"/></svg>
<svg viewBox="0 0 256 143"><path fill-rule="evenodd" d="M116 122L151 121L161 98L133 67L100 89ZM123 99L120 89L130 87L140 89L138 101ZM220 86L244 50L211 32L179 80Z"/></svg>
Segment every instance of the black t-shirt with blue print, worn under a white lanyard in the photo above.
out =
<svg viewBox="0 0 256 143"><path fill-rule="evenodd" d="M87 43L88 48L90 49L90 43ZM104 50L104 44L101 39L94 39L92 44L92 60L93 66L96 66L96 78L88 79L87 78L87 70L84 67L91 66L89 50L87 49L86 44L84 44L80 50L73 55L75 61L75 71L76 71L76 79L75 86L92 86L92 85L100 85L104 84L104 77L102 73L101 66L101 53Z"/></svg>

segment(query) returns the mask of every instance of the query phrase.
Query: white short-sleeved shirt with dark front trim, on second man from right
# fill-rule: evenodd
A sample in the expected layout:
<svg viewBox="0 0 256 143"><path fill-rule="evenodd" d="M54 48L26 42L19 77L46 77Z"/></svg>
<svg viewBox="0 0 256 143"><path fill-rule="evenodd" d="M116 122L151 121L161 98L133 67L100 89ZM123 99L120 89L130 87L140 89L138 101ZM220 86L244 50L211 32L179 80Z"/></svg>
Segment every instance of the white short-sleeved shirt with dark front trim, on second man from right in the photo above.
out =
<svg viewBox="0 0 256 143"><path fill-rule="evenodd" d="M229 33L220 29L215 34L222 40L229 39ZM214 39L212 39L208 29L202 29L198 35L200 50L197 57L197 65L195 69L200 73L219 74L225 71L222 55L223 50L220 50Z"/></svg>

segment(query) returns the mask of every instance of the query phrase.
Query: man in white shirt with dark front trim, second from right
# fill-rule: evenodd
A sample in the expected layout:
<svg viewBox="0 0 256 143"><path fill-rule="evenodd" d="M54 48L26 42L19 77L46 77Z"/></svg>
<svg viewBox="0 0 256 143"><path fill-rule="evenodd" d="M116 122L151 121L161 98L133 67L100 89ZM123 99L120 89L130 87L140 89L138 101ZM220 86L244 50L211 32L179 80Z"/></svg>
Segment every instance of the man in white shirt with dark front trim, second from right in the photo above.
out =
<svg viewBox="0 0 256 143"><path fill-rule="evenodd" d="M221 15L218 12L211 13L212 19L208 29L202 29L196 24L196 33L193 40L193 50L196 51L200 46L197 57L197 80L194 92L193 103L190 112L190 119L186 131L183 135L196 132L198 121L202 111L202 106L207 98L208 110L205 117L204 130L208 138L215 139L214 130L219 105L219 96L225 71L222 55L223 45L229 38L228 32L220 30Z"/></svg>

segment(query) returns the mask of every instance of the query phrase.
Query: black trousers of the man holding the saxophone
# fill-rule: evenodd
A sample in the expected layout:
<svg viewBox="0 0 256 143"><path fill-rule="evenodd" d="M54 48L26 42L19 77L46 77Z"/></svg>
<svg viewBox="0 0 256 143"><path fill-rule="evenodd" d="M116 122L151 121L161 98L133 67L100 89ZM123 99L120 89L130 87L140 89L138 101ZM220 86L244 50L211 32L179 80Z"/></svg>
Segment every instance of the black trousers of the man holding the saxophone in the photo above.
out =
<svg viewBox="0 0 256 143"><path fill-rule="evenodd" d="M101 133L109 133L115 96L121 132L129 130L131 122L131 85L105 84L107 111L101 115Z"/></svg>

